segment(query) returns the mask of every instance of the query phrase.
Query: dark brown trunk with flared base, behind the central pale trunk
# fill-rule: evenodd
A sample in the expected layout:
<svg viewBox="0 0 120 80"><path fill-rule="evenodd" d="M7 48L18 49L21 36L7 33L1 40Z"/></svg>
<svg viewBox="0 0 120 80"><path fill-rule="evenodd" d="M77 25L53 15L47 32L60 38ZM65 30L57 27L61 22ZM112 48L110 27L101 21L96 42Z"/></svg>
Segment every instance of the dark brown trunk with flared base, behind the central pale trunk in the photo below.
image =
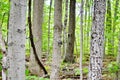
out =
<svg viewBox="0 0 120 80"><path fill-rule="evenodd" d="M68 43L64 62L74 62L74 42L75 42L75 3L76 0L70 0L70 15L68 29Z"/></svg>

